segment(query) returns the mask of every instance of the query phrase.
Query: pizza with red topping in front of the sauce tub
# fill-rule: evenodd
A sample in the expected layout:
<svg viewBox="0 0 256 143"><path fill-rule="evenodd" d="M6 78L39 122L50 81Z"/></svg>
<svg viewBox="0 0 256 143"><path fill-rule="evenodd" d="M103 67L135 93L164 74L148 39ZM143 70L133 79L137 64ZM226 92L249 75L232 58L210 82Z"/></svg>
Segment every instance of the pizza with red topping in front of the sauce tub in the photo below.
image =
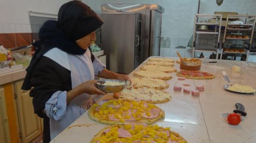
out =
<svg viewBox="0 0 256 143"><path fill-rule="evenodd" d="M191 79L212 79L215 75L205 71L178 71L177 76Z"/></svg>

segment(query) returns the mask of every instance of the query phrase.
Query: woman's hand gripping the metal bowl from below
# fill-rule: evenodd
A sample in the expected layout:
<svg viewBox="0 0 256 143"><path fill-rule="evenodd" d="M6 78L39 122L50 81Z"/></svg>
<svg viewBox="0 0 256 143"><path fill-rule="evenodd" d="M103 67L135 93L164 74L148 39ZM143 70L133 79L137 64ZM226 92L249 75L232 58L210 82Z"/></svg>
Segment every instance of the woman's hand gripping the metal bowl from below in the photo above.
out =
<svg viewBox="0 0 256 143"><path fill-rule="evenodd" d="M90 95L98 94L98 95L106 95L106 92L99 90L94 84L97 83L96 80L89 80L80 84L80 89L82 93L88 93Z"/></svg>

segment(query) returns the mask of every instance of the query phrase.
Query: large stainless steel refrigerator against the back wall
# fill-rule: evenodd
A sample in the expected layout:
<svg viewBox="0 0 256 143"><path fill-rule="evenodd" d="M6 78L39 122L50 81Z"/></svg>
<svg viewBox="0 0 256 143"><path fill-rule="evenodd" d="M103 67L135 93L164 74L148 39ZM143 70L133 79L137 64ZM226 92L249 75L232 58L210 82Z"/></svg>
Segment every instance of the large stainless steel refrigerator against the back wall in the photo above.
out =
<svg viewBox="0 0 256 143"><path fill-rule="evenodd" d="M101 6L101 42L107 69L129 74L149 56L160 55L163 12L157 4Z"/></svg>

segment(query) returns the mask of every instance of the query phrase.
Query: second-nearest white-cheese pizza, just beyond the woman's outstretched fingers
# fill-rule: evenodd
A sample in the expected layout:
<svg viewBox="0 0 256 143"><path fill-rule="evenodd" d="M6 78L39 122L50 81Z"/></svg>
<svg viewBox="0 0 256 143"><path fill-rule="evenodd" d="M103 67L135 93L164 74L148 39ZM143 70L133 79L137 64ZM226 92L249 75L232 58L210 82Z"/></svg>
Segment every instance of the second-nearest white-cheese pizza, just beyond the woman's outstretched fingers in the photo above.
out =
<svg viewBox="0 0 256 143"><path fill-rule="evenodd" d="M167 82L156 78L132 78L133 88L138 89L142 87L154 88L156 90L164 90L169 87Z"/></svg>

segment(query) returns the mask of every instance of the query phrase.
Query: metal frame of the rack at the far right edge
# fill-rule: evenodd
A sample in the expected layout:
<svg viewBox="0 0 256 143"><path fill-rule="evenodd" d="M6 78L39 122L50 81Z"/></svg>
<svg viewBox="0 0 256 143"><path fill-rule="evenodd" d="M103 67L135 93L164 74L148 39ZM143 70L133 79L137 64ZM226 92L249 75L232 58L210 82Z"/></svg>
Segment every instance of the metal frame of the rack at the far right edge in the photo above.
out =
<svg viewBox="0 0 256 143"><path fill-rule="evenodd" d="M245 22L244 22L245 24L230 24L229 23L230 18L242 18L245 20ZM254 18L253 24L247 24L246 21L251 18ZM222 54L227 54L227 56L233 56L233 57L242 56L245 54L246 61L248 60L251 43L252 43L252 39L253 39L253 33L254 33L254 29L255 29L255 22L256 22L256 15L228 15L226 26L225 26L225 31L224 31L223 42L222 42L221 59L222 59ZM236 28L234 28L234 27L236 27ZM226 37L227 33L230 33L230 34L232 34L232 33L233 34L247 33L247 34L250 34L250 37L248 39L227 38ZM229 43L230 40L237 40L236 44ZM239 43L239 41L242 41L242 40L243 40L243 44L237 44L237 43ZM248 41L249 41L249 43L246 43ZM231 46L238 45L238 46L242 47L244 52L225 52L225 51L223 51L224 47L227 48L228 45L231 45Z"/></svg>

